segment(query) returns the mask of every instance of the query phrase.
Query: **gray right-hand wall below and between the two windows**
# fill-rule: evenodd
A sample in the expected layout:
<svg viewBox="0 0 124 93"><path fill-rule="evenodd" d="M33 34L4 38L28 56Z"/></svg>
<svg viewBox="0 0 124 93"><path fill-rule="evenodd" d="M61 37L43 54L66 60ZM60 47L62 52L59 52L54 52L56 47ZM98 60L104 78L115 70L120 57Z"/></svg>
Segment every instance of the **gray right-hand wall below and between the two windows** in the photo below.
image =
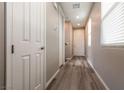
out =
<svg viewBox="0 0 124 93"><path fill-rule="evenodd" d="M110 89L124 89L124 48L100 45L101 4L95 3L92 13L92 47L87 55Z"/></svg>

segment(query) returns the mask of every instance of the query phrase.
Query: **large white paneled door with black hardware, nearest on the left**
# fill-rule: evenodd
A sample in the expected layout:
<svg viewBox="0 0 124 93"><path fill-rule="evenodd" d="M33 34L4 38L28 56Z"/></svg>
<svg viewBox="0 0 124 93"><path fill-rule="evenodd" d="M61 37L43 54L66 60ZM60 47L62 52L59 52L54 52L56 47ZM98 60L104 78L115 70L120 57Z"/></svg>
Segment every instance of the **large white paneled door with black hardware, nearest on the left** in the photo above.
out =
<svg viewBox="0 0 124 93"><path fill-rule="evenodd" d="M14 53L11 89L43 89L43 3L8 3L7 29L11 29ZM7 83L8 84L8 83Z"/></svg>

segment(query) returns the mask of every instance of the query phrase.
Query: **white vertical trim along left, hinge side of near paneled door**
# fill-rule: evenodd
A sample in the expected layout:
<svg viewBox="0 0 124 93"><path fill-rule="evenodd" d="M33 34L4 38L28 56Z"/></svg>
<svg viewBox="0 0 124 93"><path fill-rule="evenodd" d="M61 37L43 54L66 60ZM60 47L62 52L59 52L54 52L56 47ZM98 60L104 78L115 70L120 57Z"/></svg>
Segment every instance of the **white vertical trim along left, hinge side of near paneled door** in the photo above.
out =
<svg viewBox="0 0 124 93"><path fill-rule="evenodd" d="M6 3L6 89L12 89L12 3ZM9 15L8 15L9 14Z"/></svg>

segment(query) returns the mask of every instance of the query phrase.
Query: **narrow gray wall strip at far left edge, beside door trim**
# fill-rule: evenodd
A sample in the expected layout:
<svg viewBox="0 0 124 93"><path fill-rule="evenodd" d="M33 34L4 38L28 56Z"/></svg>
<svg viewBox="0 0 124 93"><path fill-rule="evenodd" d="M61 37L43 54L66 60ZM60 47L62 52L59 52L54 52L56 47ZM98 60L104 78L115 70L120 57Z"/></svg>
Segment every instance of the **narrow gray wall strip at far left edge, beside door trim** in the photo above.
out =
<svg viewBox="0 0 124 93"><path fill-rule="evenodd" d="M0 89L4 88L4 3L0 3Z"/></svg>

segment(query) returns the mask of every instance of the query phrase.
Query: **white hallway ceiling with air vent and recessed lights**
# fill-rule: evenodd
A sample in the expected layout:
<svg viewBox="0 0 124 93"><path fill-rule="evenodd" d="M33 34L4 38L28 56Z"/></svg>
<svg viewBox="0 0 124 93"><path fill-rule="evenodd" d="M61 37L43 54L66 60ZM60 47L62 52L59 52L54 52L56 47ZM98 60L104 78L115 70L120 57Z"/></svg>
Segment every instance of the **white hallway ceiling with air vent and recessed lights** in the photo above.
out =
<svg viewBox="0 0 124 93"><path fill-rule="evenodd" d="M84 27L90 13L92 2L62 2L61 7L66 20L71 21L74 28Z"/></svg>

